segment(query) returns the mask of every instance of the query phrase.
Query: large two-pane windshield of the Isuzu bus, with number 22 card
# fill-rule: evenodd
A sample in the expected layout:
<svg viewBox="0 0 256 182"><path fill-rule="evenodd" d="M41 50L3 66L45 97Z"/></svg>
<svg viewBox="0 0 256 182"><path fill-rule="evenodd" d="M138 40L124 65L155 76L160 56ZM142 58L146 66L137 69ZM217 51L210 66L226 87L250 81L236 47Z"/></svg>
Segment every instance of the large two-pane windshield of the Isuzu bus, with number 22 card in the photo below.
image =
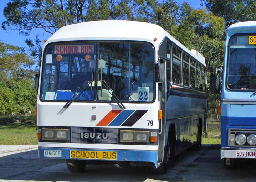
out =
<svg viewBox="0 0 256 182"><path fill-rule="evenodd" d="M111 102L113 94L122 102L153 101L154 49L147 43L58 43L44 52L41 100L67 101L80 93L81 102Z"/></svg>

